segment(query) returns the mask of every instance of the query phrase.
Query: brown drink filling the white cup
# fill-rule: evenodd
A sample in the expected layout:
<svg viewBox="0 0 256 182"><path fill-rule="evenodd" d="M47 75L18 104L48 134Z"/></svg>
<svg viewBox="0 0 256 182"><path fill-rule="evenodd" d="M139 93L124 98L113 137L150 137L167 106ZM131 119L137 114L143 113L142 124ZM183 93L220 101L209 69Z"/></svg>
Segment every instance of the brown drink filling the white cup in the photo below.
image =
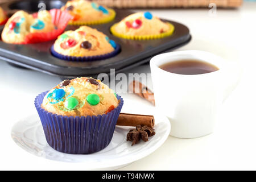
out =
<svg viewBox="0 0 256 182"><path fill-rule="evenodd" d="M160 65L164 71L180 75L199 75L218 71L218 67L201 60L177 60Z"/></svg>

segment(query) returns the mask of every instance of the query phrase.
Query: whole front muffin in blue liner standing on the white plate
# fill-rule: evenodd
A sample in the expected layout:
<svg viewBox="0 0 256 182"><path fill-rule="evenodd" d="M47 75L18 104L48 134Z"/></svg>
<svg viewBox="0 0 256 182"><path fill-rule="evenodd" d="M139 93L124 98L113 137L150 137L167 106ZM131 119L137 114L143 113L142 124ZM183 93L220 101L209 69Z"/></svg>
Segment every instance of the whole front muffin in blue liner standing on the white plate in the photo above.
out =
<svg viewBox="0 0 256 182"><path fill-rule="evenodd" d="M123 105L100 80L65 80L35 99L49 146L69 154L90 154L108 146Z"/></svg>

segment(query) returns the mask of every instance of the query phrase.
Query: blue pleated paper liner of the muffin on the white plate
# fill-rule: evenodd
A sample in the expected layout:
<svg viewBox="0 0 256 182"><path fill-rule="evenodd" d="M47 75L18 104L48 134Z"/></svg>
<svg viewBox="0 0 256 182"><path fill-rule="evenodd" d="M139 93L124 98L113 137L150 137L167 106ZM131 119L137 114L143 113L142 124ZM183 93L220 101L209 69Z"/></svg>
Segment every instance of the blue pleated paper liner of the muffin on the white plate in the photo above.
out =
<svg viewBox="0 0 256 182"><path fill-rule="evenodd" d="M68 154L91 154L108 146L123 106L122 97L117 95L119 105L107 114L68 117L49 113L41 107L46 94L43 92L35 98L35 107L49 146Z"/></svg>

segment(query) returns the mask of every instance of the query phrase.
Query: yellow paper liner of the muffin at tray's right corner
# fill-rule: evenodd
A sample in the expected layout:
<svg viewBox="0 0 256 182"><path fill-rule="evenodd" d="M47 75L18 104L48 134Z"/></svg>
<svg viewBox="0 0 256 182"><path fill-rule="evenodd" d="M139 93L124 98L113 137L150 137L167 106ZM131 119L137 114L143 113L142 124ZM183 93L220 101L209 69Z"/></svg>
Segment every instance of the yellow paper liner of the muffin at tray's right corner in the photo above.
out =
<svg viewBox="0 0 256 182"><path fill-rule="evenodd" d="M168 25L170 26L170 30L168 30L167 32L158 34L158 35L124 35L124 34L119 34L117 31L115 31L115 27L117 27L117 24L118 23L115 23L112 27L110 27L110 31L112 32L112 34L114 36L117 36L118 38L131 39L131 40L162 39L162 38L172 35L172 33L175 30L174 25L171 23L168 23Z"/></svg>

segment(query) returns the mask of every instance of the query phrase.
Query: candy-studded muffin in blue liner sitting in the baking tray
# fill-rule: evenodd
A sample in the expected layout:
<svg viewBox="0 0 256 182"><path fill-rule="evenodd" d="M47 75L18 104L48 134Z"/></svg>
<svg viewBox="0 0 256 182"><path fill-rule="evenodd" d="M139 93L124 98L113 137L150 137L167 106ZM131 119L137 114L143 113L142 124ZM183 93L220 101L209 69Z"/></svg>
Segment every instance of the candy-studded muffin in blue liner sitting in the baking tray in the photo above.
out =
<svg viewBox="0 0 256 182"><path fill-rule="evenodd" d="M52 54L64 60L96 60L112 56L117 44L105 34L88 26L61 34L52 46Z"/></svg>

